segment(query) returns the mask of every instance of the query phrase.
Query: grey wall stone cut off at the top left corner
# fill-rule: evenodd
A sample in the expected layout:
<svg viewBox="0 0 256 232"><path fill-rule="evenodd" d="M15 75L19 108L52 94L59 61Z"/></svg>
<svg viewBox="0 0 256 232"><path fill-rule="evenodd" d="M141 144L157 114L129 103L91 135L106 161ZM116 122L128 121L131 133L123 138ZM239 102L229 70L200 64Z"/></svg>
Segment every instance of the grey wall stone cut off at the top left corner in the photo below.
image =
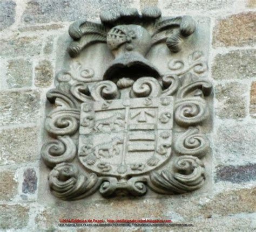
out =
<svg viewBox="0 0 256 232"><path fill-rule="evenodd" d="M0 2L0 31L15 22L15 7L14 1Z"/></svg>

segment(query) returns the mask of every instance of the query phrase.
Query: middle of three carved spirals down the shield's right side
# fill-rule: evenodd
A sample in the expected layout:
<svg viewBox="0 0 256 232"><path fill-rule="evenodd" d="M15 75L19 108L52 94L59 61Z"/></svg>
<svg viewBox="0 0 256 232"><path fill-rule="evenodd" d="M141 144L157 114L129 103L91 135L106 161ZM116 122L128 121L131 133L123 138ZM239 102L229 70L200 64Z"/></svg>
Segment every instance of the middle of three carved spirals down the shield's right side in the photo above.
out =
<svg viewBox="0 0 256 232"><path fill-rule="evenodd" d="M197 128L188 129L174 143L174 150L177 154L196 156L198 158L205 156L209 148L208 139L200 134Z"/></svg>

